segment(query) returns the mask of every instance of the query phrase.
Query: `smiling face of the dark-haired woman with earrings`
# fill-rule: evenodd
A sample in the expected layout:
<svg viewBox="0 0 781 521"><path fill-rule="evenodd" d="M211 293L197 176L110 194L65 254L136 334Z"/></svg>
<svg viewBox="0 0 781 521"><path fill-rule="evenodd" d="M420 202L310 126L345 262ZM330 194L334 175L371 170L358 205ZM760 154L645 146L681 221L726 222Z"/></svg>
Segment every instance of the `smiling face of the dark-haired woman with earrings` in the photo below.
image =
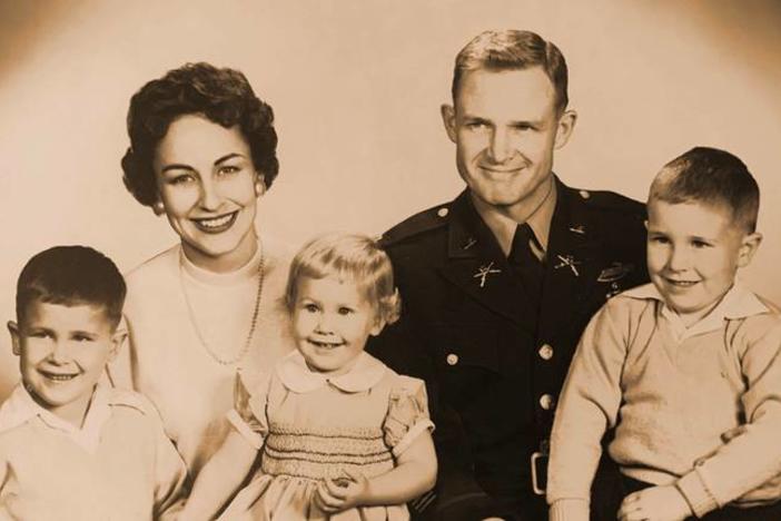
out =
<svg viewBox="0 0 781 521"><path fill-rule="evenodd" d="M238 127L181 116L158 144L152 166L162 208L192 263L226 272L253 257L264 186Z"/></svg>

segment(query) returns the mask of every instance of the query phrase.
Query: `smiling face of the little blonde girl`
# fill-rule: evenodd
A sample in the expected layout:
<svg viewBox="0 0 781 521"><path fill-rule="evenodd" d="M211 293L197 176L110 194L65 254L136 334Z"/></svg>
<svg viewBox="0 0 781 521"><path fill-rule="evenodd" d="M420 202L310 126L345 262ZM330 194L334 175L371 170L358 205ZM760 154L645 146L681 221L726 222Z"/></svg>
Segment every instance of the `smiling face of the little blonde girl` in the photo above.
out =
<svg viewBox="0 0 781 521"><path fill-rule="evenodd" d="M293 305L298 351L312 371L338 376L355 365L369 335L384 326L354 281L303 276Z"/></svg>

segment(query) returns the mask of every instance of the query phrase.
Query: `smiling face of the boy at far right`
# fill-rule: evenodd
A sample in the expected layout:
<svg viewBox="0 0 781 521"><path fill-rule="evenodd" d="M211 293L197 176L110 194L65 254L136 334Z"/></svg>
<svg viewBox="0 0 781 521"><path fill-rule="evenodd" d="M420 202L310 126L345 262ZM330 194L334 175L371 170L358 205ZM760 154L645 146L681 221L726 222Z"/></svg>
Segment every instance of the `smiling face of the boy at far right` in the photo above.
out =
<svg viewBox="0 0 781 521"><path fill-rule="evenodd" d="M715 307L761 240L725 207L700 201L652 200L647 229L651 281L686 326Z"/></svg>

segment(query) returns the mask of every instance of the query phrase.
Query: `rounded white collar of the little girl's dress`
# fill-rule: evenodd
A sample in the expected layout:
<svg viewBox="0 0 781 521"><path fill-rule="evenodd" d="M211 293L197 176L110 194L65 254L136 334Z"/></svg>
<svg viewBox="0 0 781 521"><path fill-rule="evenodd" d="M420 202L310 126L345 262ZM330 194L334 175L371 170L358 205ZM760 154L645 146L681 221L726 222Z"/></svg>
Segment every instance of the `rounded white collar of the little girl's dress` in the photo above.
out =
<svg viewBox="0 0 781 521"><path fill-rule="evenodd" d="M308 393L325 385L333 385L346 393L367 391L385 375L385 364L369 355L360 353L353 368L339 376L328 377L312 371L304 356L294 351L277 364L277 375L281 383L296 393Z"/></svg>

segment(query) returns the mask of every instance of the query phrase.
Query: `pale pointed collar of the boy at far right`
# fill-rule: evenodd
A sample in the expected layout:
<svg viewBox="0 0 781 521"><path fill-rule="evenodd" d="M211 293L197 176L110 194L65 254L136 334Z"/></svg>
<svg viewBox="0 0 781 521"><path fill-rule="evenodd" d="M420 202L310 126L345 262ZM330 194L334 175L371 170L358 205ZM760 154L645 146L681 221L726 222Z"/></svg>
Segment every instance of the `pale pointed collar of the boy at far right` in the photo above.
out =
<svg viewBox="0 0 781 521"><path fill-rule="evenodd" d="M653 284L645 284L624 292L625 296L632 298L655 299L662 303L662 315L668 318L680 333L680 340L694 336L701 333L709 333L722 327L724 321L745 318L748 316L768 313L768 306L759 299L740 281L735 281L732 287L724 294L721 302L705 316L689 327L683 325L681 317L664 303L664 297Z"/></svg>

